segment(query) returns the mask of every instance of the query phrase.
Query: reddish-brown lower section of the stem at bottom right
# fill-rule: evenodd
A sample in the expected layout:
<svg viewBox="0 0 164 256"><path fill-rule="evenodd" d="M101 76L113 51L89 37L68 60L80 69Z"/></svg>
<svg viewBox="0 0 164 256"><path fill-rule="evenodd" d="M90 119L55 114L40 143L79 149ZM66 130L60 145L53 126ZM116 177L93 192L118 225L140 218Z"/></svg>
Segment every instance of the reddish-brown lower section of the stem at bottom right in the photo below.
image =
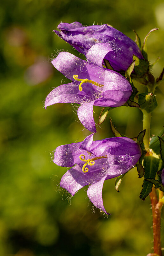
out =
<svg viewBox="0 0 164 256"><path fill-rule="evenodd" d="M161 239L160 239L160 213L163 203L157 198L156 189L152 188L150 192L150 200L152 204L153 212L153 242L154 242L154 253L162 256L161 252Z"/></svg>

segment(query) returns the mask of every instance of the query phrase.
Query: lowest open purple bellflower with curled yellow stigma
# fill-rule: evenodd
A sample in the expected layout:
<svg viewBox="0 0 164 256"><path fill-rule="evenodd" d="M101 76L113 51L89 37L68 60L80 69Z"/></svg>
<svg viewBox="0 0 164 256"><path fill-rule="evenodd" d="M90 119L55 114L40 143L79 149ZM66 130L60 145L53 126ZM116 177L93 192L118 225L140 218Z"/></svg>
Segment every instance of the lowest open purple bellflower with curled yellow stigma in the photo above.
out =
<svg viewBox="0 0 164 256"><path fill-rule="evenodd" d="M107 179L130 170L140 158L140 148L132 139L125 137L93 141L93 134L82 142L56 148L53 162L72 167L61 178L60 186L73 196L84 187L90 201L108 214L103 206L102 189Z"/></svg>

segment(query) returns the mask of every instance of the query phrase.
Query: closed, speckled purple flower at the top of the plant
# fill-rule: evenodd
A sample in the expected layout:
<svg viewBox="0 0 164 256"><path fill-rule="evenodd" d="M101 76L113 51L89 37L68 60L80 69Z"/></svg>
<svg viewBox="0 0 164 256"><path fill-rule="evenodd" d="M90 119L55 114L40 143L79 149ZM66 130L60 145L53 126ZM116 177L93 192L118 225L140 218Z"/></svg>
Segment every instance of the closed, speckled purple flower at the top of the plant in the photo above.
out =
<svg viewBox="0 0 164 256"><path fill-rule="evenodd" d="M53 32L84 55L87 55L90 48L99 52L108 43L114 51L114 56L106 54L105 59L110 62L114 70L126 70L132 63L133 54L143 59L137 44L108 24L83 26L76 21L71 24L61 22L57 28L61 31L53 30Z"/></svg>

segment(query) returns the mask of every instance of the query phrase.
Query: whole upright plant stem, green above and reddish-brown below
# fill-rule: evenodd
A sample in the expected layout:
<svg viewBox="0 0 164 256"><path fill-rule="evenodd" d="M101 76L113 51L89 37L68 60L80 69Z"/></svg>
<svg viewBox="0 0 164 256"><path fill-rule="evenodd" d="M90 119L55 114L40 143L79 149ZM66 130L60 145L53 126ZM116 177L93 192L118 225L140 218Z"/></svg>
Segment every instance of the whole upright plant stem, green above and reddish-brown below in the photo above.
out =
<svg viewBox="0 0 164 256"><path fill-rule="evenodd" d="M144 145L147 153L150 153L149 141L150 141L150 123L151 123L151 113L147 113L145 109L142 109L143 112L143 129L146 129L146 133L144 136ZM150 153L151 154L151 153ZM154 185L152 188L152 192L150 192L150 200L152 205L152 213L153 213L153 243L154 243L154 253L161 256L161 239L160 239L160 215L161 208L164 204L164 199L162 199L163 192L159 191L159 200L157 197L157 190Z"/></svg>

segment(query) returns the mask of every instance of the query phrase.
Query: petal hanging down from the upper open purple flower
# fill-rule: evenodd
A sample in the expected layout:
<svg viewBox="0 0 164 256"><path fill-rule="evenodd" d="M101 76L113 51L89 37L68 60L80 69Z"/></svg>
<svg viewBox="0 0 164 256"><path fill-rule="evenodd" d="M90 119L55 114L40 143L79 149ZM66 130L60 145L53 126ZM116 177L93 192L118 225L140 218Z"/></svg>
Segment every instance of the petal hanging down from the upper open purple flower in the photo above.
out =
<svg viewBox="0 0 164 256"><path fill-rule="evenodd" d="M84 125L86 129L91 132L96 132L95 121L93 118L93 102L87 102L82 104L77 110L77 115L80 122Z"/></svg>

